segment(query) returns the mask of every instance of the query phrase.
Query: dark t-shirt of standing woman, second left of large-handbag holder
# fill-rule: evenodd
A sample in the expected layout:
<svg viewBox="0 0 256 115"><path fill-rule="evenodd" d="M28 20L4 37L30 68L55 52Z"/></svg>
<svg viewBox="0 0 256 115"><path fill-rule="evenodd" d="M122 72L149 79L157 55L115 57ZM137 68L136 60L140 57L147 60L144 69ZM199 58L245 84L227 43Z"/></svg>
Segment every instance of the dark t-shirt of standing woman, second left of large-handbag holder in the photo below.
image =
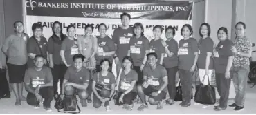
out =
<svg viewBox="0 0 256 115"><path fill-rule="evenodd" d="M166 41L168 46L168 50L172 53L172 57L169 57L166 52L163 59L163 66L165 68L172 68L178 66L178 43L175 39L170 39L170 41Z"/></svg>

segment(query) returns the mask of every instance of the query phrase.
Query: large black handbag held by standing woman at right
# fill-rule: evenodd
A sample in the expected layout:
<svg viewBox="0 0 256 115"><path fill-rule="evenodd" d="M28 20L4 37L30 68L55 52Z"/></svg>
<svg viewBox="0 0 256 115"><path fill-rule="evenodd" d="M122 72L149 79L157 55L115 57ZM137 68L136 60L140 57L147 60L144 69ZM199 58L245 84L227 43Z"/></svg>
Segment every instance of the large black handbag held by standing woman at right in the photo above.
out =
<svg viewBox="0 0 256 115"><path fill-rule="evenodd" d="M205 76L208 76L205 74ZM203 81L205 79L205 76L203 76ZM214 105L216 103L216 94L215 89L210 85L210 80L208 76L208 85L203 85L203 81L200 83L200 85L197 85L196 87L196 94L194 96L194 101L196 103L201 104L207 104L207 105Z"/></svg>

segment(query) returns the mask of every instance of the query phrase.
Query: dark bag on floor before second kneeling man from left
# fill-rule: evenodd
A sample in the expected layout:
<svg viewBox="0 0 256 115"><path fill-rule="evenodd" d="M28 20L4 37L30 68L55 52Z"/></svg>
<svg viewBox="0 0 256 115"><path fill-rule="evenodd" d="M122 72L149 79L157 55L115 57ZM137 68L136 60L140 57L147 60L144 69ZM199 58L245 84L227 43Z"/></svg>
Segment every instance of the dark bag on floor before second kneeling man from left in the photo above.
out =
<svg viewBox="0 0 256 115"><path fill-rule="evenodd" d="M78 114L81 112L81 109L77 103L77 98L76 96L65 96L63 99L63 112L64 113L71 113L71 114ZM78 109L78 112L76 111L76 108ZM58 110L58 112L62 112Z"/></svg>

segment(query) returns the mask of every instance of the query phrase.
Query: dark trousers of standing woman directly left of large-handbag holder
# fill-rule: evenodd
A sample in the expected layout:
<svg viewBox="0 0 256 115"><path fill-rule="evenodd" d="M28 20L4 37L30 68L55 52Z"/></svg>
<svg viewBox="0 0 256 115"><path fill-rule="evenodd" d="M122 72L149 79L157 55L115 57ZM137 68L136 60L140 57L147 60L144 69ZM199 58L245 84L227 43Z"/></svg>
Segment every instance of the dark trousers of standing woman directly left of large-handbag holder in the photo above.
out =
<svg viewBox="0 0 256 115"><path fill-rule="evenodd" d="M182 100L190 103L192 95L192 74L190 70L179 69L179 77L181 79Z"/></svg>

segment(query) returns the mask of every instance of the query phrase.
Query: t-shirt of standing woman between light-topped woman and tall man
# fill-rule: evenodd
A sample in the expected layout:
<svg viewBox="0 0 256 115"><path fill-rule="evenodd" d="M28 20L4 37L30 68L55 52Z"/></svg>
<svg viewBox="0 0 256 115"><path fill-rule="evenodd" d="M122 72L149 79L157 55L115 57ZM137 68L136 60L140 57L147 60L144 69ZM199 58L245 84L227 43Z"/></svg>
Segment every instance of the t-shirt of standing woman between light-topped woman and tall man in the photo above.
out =
<svg viewBox="0 0 256 115"><path fill-rule="evenodd" d="M116 50L116 46L113 43L112 39L109 36L105 36L104 38L98 38L98 51L97 52L111 52ZM96 64L100 65L100 61L104 58L109 59L109 61L113 62L113 56L98 56L95 54Z"/></svg>

